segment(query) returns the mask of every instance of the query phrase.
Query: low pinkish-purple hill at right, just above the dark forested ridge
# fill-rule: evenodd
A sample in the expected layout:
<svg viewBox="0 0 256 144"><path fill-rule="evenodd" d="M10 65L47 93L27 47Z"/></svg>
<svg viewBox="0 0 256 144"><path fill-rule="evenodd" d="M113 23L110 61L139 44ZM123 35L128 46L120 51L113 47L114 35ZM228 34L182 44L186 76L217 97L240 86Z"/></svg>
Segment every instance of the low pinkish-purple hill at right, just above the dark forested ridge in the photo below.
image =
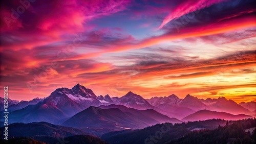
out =
<svg viewBox="0 0 256 144"><path fill-rule="evenodd" d="M181 119L181 121L183 122L199 121L199 120L204 121L206 119L213 119L213 118L216 118L216 119L221 118L225 120L238 120L238 119L244 119L244 118L252 118L252 116L245 115L245 114L233 115L226 112L200 110L184 117L183 119Z"/></svg>

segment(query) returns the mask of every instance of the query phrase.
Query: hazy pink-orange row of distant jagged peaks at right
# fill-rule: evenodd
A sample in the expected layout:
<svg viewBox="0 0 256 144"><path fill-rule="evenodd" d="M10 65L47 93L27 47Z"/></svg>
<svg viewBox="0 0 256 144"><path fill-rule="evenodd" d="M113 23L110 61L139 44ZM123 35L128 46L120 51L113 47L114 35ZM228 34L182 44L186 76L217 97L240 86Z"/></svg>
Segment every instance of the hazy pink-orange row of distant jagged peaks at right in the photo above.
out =
<svg viewBox="0 0 256 144"><path fill-rule="evenodd" d="M234 115L246 114L254 116L256 114L255 111L252 111L255 109L255 102L251 102L249 104L237 104L236 102L232 100L227 100L224 97L218 99L208 98L204 100L187 94L184 99L179 99L176 95L172 94L169 97L154 97L151 99L147 99L147 101L151 105L167 111L164 114L168 116L172 115L179 119L182 119L187 115L193 114L199 110L226 112ZM242 105L247 106L247 108L249 108L250 110L243 107Z"/></svg>

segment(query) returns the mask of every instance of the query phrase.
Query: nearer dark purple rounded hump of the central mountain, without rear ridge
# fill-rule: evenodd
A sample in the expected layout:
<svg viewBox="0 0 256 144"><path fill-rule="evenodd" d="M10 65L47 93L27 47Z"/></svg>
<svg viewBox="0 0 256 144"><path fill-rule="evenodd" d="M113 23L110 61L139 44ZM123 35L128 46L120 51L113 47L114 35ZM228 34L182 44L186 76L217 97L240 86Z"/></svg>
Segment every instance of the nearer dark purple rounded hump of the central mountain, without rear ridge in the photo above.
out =
<svg viewBox="0 0 256 144"><path fill-rule="evenodd" d="M137 127L136 122L129 114L123 113L117 108L101 109L93 106L75 114L62 125L76 128ZM143 125L145 124L141 122L141 126Z"/></svg>

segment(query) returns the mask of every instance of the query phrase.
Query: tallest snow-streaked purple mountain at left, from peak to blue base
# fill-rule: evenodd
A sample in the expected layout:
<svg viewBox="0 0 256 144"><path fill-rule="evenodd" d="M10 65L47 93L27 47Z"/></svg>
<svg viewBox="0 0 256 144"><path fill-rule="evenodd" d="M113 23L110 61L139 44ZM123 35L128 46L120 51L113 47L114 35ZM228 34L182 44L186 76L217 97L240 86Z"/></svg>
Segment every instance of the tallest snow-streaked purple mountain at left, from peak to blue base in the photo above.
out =
<svg viewBox="0 0 256 144"><path fill-rule="evenodd" d="M10 114L10 122L49 122L61 124L77 112L90 106L99 106L101 102L91 89L77 84L72 89L58 88L45 100L36 105L28 105ZM1 117L1 119L3 119Z"/></svg>

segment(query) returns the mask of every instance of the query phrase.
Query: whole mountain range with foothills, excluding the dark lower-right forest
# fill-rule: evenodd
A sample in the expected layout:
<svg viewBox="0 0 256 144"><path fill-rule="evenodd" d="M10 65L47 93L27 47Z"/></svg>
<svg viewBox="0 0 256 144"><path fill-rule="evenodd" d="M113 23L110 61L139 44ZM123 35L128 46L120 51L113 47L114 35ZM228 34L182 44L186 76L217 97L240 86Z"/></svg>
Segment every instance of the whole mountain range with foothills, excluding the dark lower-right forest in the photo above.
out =
<svg viewBox="0 0 256 144"><path fill-rule="evenodd" d="M256 116L255 102L237 104L224 97L204 100L190 94L184 99L175 94L144 99L132 91L111 98L108 94L97 96L80 84L71 89L57 88L43 99L8 102L9 136L49 143L58 142L60 137L78 143L143 143L165 127L168 134L156 142L161 143L190 131L216 129L226 120ZM4 104L3 98L0 103ZM3 123L1 126L4 130Z"/></svg>

